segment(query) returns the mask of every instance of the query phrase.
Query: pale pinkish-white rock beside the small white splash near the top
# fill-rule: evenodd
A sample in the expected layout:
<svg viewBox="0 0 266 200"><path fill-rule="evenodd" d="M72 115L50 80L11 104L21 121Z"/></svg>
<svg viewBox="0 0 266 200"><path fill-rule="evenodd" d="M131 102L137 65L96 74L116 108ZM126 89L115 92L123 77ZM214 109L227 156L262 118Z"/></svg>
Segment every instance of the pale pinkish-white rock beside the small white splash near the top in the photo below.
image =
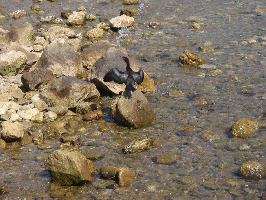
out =
<svg viewBox="0 0 266 200"><path fill-rule="evenodd" d="M128 17L127 15L121 15L110 19L109 22L111 29L118 31L121 28L133 26L135 24L135 19L133 17Z"/></svg>

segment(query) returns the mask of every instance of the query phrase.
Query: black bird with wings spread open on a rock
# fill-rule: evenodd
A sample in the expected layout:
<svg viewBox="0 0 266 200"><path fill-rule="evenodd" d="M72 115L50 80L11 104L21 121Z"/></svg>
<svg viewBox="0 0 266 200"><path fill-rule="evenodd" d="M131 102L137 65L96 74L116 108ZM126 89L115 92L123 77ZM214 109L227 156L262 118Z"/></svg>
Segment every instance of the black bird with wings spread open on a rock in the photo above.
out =
<svg viewBox="0 0 266 200"><path fill-rule="evenodd" d="M142 83L144 78L144 73L142 68L139 68L139 71L135 72L133 71L129 66L129 60L127 57L122 57L123 60L127 63L126 71L119 71L117 68L113 68L110 71L106 73L106 75L103 77L104 82L114 81L116 83L126 84L126 90L127 91L136 91L134 87L134 83Z"/></svg>

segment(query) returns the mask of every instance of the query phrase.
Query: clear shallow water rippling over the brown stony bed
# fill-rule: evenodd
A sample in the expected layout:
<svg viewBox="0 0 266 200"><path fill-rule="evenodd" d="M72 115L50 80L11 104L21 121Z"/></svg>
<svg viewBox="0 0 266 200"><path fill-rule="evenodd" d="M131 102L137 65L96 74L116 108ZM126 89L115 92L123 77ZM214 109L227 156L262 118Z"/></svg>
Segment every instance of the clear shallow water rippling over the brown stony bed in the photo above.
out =
<svg viewBox="0 0 266 200"><path fill-rule="evenodd" d="M30 13L33 4L40 5L45 12L16 20L8 17L15 10ZM140 0L140 5L126 6L123 1L2 1L0 6L4 8L0 7L0 15L6 19L0 26L10 30L12 25L30 22L35 27L38 17L60 17L62 10L77 10L81 5L86 7L87 14L98 16L84 26L69 27L75 33L84 33L88 26L118 16L123 7L138 11L134 17L135 30L104 32L104 37L110 43L125 47L128 55L138 59L154 79L158 91L146 93L155 110L154 122L142 129L118 127L108 108L112 99L103 97L103 120L81 122L77 118L80 123L67 128L86 127L86 133L81 134L84 145L80 146L81 152L97 149L105 154L94 161L95 169L103 165L127 166L135 171L137 179L130 187L112 189L106 187L110 181L100 179L96 173L94 181L85 186L57 188L51 184L43 166L43 159L57 149L59 139L55 138L45 141L54 145L53 149L38 150L31 143L19 150L1 152L0 180L9 193L0 199L261 199L265 179L245 180L236 170L250 160L262 165L266 161L266 14L253 11L265 8L265 3ZM184 11L175 12L177 8ZM148 22L153 21L161 26L148 27ZM199 23L202 29L190 30L192 21ZM44 29L49 27L43 25ZM82 39L82 43L85 42L86 39ZM178 46L178 42L189 44ZM211 46L215 50L203 52L198 49L200 46ZM185 49L198 53L219 71L182 67L178 59ZM182 95L169 95L174 91ZM260 125L251 138L230 137L231 125L241 118ZM102 121L107 121L110 130L99 138L88 137L86 134L99 129ZM36 127L38 129L42 126ZM213 132L216 138L202 137L205 131ZM159 137L166 142L139 153L122 153L123 146L140 136ZM249 145L251 149L239 150L241 145ZM175 154L177 162L155 162L157 154L166 152Z"/></svg>

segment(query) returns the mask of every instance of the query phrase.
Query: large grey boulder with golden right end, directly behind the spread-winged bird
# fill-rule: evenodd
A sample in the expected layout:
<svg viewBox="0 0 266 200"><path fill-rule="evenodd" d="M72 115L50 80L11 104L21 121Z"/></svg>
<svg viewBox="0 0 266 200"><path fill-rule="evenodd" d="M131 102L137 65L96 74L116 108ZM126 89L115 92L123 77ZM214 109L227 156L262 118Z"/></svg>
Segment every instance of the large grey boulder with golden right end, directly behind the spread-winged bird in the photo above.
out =
<svg viewBox="0 0 266 200"><path fill-rule="evenodd" d="M123 56L126 54L121 53L115 47L110 47L105 54L99 58L96 63L93 65L90 71L90 77L88 79L90 82L94 83L96 87L100 87L104 90L108 90L114 94L119 94L125 89L125 85L121 85L111 82L104 82L103 77L105 74L110 71L112 68L116 67L120 71L126 71L126 63L123 60ZM133 71L139 71L141 65L138 61L133 58L129 58L130 67ZM144 80L140 85L135 85L138 89L142 91L156 91L156 87L154 87L154 82L148 77L148 75L144 72Z"/></svg>

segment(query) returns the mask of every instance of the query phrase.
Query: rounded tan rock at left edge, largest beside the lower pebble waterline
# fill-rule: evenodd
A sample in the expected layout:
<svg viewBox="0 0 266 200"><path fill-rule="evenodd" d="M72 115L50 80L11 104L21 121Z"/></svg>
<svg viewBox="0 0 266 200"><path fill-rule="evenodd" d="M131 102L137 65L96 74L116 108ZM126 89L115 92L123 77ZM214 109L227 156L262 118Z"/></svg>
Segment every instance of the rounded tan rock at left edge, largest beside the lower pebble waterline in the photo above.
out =
<svg viewBox="0 0 266 200"><path fill-rule="evenodd" d="M3 128L1 131L1 138L6 142L15 142L22 138L23 134L23 125L18 122L14 122L7 124Z"/></svg>

